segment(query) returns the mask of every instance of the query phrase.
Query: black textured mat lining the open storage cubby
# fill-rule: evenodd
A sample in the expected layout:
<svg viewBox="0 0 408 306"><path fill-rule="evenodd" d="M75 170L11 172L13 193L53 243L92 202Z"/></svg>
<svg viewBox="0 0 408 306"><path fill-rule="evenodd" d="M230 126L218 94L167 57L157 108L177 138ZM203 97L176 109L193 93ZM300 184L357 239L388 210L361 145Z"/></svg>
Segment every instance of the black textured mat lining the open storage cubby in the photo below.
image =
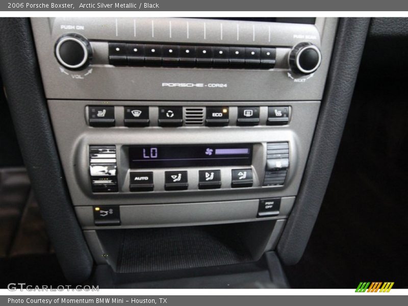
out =
<svg viewBox="0 0 408 306"><path fill-rule="evenodd" d="M232 230L231 230L232 229ZM117 272L154 272L253 261L233 226L126 230Z"/></svg>

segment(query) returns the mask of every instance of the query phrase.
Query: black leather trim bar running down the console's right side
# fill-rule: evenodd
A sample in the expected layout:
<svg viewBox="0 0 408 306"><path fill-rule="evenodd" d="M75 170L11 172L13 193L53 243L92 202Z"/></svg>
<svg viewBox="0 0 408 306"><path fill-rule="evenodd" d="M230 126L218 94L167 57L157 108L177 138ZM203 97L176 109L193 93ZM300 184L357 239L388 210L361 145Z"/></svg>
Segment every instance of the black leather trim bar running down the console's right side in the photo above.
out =
<svg viewBox="0 0 408 306"><path fill-rule="evenodd" d="M330 179L359 71L370 18L341 18L315 136L293 211L277 245L286 265L303 255Z"/></svg>

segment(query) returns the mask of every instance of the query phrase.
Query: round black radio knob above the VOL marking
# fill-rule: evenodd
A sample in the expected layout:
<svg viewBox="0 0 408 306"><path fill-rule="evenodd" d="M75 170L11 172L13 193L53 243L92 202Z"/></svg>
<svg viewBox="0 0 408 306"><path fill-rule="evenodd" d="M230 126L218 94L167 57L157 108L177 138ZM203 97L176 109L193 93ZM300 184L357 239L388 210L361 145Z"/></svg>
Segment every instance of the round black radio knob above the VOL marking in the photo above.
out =
<svg viewBox="0 0 408 306"><path fill-rule="evenodd" d="M86 68L92 59L92 47L82 35L66 34L55 44L55 57L65 68L81 70Z"/></svg>

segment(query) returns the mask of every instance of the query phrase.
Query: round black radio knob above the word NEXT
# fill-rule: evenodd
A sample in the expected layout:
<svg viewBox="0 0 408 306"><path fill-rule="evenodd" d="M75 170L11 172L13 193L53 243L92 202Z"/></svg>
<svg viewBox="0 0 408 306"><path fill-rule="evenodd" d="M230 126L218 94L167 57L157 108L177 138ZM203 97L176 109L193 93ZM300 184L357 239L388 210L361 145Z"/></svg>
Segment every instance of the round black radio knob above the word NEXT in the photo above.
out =
<svg viewBox="0 0 408 306"><path fill-rule="evenodd" d="M289 55L289 66L299 74L310 74L319 68L322 61L320 49L310 42L301 42L293 47Z"/></svg>

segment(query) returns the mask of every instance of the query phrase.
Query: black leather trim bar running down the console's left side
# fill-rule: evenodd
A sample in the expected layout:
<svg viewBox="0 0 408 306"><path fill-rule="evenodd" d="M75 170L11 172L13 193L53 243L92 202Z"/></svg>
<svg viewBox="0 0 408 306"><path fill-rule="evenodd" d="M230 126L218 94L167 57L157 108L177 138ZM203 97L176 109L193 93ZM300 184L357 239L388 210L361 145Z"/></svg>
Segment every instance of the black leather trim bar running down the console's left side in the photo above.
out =
<svg viewBox="0 0 408 306"><path fill-rule="evenodd" d="M93 260L60 165L28 18L0 18L0 71L49 238L68 281L83 282Z"/></svg>

